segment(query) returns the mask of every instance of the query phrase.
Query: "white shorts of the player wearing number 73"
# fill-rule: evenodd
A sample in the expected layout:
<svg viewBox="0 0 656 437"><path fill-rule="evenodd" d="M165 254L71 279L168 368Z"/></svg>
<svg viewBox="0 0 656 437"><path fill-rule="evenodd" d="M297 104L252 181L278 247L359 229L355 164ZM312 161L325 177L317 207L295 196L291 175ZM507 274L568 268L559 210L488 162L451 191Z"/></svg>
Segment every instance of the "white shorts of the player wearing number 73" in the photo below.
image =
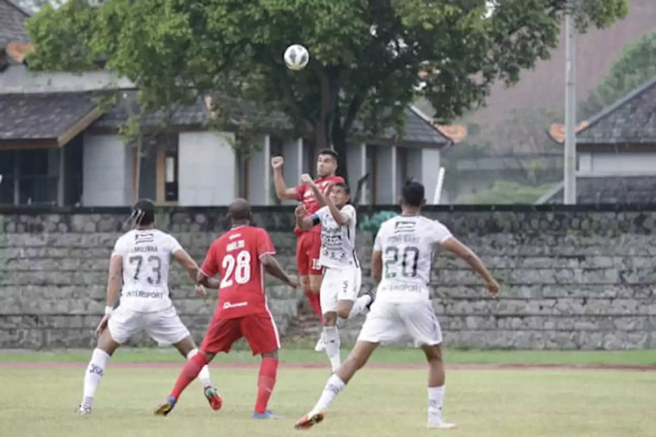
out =
<svg viewBox="0 0 656 437"><path fill-rule="evenodd" d="M119 305L108 323L112 339L123 344L133 335L146 331L159 346L169 346L190 336L175 308L157 312L136 312Z"/></svg>

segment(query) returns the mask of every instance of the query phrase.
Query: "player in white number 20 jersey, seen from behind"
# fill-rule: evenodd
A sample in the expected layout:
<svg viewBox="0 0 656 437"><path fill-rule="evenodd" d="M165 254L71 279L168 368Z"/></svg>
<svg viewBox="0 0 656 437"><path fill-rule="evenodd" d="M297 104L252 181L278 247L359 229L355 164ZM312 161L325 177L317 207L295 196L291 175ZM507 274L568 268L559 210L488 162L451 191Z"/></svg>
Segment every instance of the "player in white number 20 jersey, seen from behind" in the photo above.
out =
<svg viewBox="0 0 656 437"><path fill-rule="evenodd" d="M409 335L428 360L428 427L451 429L441 417L444 399L444 365L440 323L430 303L430 270L434 251L441 246L466 261L485 280L489 293L499 295L499 284L481 260L436 220L420 215L425 205L424 186L408 182L403 187L401 215L384 222L376 236L371 276L379 282L376 302L358 336L355 348L330 377L316 406L295 425L310 428L323 421L325 409L344 389L380 343Z"/></svg>

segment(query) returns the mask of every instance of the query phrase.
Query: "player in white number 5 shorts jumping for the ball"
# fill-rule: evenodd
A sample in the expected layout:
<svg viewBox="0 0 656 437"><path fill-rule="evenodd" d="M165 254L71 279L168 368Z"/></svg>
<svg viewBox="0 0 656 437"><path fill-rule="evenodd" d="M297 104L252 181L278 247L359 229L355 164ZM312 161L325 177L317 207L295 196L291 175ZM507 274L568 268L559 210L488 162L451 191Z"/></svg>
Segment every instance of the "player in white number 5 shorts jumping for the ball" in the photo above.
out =
<svg viewBox="0 0 656 437"><path fill-rule="evenodd" d="M325 204L310 217L306 217L303 205L298 205L295 214L300 230L321 224L319 265L323 268L323 280L319 299L323 315L322 338L335 372L340 365L338 322L368 310L373 295L367 293L358 297L362 270L355 247L357 215L353 205L348 204L348 185L343 182L333 184L322 194L309 175L303 175L302 182L312 188L319 203Z"/></svg>

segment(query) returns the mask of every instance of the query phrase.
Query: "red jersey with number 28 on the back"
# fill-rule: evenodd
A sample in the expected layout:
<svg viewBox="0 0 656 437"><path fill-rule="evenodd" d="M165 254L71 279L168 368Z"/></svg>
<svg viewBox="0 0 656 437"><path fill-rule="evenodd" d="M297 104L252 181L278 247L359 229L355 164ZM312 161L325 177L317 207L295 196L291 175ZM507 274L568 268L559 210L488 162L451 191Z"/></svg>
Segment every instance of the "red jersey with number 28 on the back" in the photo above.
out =
<svg viewBox="0 0 656 437"><path fill-rule="evenodd" d="M254 226L237 226L215 239L201 270L210 278L216 274L221 278L216 316L232 319L268 314L260 258L275 253L268 232Z"/></svg>

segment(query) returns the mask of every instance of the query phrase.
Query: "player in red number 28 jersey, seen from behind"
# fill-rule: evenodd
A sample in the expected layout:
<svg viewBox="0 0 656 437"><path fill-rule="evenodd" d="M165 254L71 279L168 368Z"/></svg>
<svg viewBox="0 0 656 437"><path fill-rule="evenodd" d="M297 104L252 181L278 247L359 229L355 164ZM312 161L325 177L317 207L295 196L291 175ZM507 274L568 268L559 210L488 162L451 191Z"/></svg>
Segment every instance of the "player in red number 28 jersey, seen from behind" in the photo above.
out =
<svg viewBox="0 0 656 437"><path fill-rule="evenodd" d="M171 394L157 407L155 415L169 414L201 368L218 352L230 352L232 345L245 337L253 355L262 355L253 419L280 419L267 409L276 385L280 337L266 303L264 270L291 287L296 288L298 283L274 258L276 249L266 230L249 225L251 205L245 199L236 199L228 215L232 229L212 243L197 278L200 282L216 274L220 276L215 314L200 353L182 367Z"/></svg>

